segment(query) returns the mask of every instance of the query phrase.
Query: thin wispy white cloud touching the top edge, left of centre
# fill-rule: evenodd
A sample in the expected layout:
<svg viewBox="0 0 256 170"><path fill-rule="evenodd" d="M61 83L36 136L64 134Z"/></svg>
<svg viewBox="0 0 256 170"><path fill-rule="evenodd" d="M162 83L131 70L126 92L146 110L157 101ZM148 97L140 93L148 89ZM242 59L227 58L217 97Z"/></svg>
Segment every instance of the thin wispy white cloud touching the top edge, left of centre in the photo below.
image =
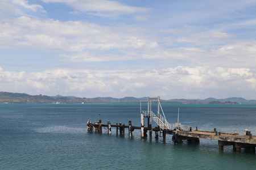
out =
<svg viewBox="0 0 256 170"><path fill-rule="evenodd" d="M42 0L46 3L65 3L76 10L85 12L88 15L115 18L122 14L134 14L137 12L147 12L148 8L124 5L117 1L106 0Z"/></svg>

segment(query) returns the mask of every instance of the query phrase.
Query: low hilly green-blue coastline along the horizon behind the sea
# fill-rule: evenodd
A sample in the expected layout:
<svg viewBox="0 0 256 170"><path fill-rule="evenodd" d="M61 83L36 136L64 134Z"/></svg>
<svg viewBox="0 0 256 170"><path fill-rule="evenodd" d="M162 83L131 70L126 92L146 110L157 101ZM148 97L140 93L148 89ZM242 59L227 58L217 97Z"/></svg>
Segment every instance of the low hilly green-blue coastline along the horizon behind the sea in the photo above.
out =
<svg viewBox="0 0 256 170"><path fill-rule="evenodd" d="M75 96L46 96L46 95L28 95L12 92L0 92L0 103L34 103L34 104L85 104L85 103L139 103L141 100L147 100L147 97L75 97ZM161 100L168 104L256 104L256 100L246 100L242 97L230 97L226 99L170 99Z"/></svg>

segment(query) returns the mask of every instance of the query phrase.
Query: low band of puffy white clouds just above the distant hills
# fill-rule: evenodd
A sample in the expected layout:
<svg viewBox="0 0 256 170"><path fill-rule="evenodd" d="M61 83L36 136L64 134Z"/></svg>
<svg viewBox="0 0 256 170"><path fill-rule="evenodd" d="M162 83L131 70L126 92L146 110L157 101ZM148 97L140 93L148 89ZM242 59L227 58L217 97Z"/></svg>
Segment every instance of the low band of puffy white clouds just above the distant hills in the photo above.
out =
<svg viewBox="0 0 256 170"><path fill-rule="evenodd" d="M154 81L152 81L154 80ZM14 92L79 97L161 95L175 97L230 97L256 92L255 70L185 67L138 70L51 69L39 73L0 71L0 86ZM15 84L12 86L11 84ZM150 89L150 92L148 92ZM246 89L246 90L245 90ZM217 91L217 94L216 94ZM250 91L250 93L248 92ZM204 94L208 95L205 96ZM115 97L115 96L113 96Z"/></svg>

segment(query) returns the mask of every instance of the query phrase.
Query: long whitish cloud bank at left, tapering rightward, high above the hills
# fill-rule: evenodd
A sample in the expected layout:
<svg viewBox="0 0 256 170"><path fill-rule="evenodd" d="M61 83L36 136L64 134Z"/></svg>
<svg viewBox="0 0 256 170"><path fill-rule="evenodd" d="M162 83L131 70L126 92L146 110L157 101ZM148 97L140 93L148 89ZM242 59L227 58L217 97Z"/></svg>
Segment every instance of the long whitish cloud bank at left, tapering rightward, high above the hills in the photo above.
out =
<svg viewBox="0 0 256 170"><path fill-rule="evenodd" d="M0 48L16 46L79 52L84 49L140 48L151 43L140 39L136 33L121 32L118 28L83 22L31 19L26 16L0 23L0 31Z"/></svg>

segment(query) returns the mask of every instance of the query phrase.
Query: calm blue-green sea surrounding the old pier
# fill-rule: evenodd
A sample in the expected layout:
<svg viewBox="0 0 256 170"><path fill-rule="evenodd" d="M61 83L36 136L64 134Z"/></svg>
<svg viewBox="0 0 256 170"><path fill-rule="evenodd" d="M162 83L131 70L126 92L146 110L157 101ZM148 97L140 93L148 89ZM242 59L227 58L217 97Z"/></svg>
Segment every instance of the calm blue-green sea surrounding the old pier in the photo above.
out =
<svg viewBox="0 0 256 170"><path fill-rule="evenodd" d="M144 109L144 108L145 109ZM152 111L157 108L152 105ZM256 105L162 104L169 123L179 122L193 130L256 135ZM146 110L146 106L142 105ZM218 150L217 141L172 142L88 132L87 120L103 124L141 125L140 104L0 104L0 169L255 169L256 154ZM147 122L145 120L145 122ZM155 127L156 125L152 125ZM149 136L149 135L148 135Z"/></svg>

